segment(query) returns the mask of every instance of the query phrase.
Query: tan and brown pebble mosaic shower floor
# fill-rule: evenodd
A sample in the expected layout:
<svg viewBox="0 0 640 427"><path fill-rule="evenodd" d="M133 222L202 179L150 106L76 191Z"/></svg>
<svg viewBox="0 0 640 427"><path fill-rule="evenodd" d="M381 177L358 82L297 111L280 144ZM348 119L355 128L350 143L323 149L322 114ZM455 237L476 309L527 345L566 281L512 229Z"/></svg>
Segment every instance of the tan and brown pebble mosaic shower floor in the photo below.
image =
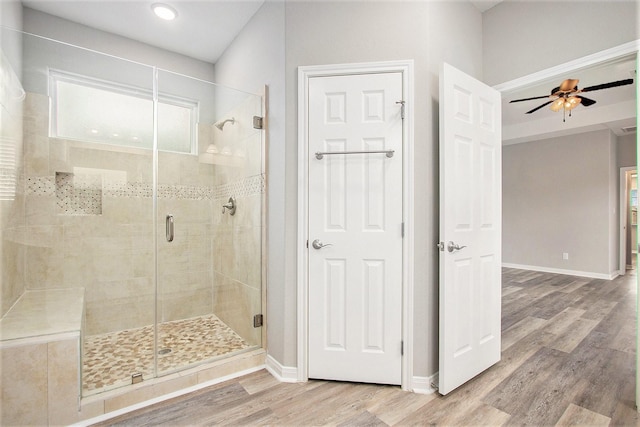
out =
<svg viewBox="0 0 640 427"><path fill-rule="evenodd" d="M131 375L153 376L153 325L91 335L84 340L82 394L131 384ZM203 362L252 347L214 315L159 326L158 372Z"/></svg>

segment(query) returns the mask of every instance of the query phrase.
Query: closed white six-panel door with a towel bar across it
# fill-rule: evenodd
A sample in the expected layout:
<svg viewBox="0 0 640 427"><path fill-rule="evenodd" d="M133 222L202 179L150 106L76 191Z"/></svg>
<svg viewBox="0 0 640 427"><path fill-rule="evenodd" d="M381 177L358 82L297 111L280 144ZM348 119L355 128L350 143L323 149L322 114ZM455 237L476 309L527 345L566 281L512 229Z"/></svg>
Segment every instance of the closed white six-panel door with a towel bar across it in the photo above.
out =
<svg viewBox="0 0 640 427"><path fill-rule="evenodd" d="M310 378L401 383L402 84L309 79Z"/></svg>

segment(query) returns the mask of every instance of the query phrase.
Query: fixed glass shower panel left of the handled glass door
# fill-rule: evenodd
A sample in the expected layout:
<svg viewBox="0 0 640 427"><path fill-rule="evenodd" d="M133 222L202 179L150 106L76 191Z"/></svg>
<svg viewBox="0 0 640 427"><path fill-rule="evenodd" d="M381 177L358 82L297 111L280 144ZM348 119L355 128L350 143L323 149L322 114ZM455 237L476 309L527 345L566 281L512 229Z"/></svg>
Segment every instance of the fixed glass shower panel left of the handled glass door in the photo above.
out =
<svg viewBox="0 0 640 427"><path fill-rule="evenodd" d="M83 396L152 378L153 68L22 42L26 287L84 292Z"/></svg>

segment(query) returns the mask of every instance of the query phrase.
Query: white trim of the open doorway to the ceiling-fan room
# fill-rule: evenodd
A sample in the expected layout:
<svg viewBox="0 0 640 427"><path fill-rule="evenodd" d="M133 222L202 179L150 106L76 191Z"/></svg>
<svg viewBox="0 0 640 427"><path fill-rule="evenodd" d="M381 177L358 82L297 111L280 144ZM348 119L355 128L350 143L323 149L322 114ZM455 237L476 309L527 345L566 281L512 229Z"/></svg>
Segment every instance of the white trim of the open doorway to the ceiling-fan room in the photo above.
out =
<svg viewBox="0 0 640 427"><path fill-rule="evenodd" d="M564 62L561 65L547 68L523 77L519 77L514 80L510 80L498 85L494 85L493 88L499 92L508 92L514 89L522 88L539 81L545 80L551 77L557 77L561 74L572 73L581 68L589 67L606 61L611 61L627 55L636 55L636 69L640 65L640 39L633 40L618 46L614 46L610 49L605 49L600 52L596 52L591 55L584 56L572 61ZM637 80L637 78L636 78ZM636 85L638 82L636 81ZM640 87L636 86L636 105L640 108ZM638 119L638 109L636 109L636 124L640 123ZM636 133L636 148L638 147L638 133ZM637 153L637 160L640 159L640 152ZM640 254L638 255L640 258ZM639 277L640 279L640 277ZM636 284L638 290L637 304L640 306L640 280L637 280ZM636 312L636 327L640 328L640 316ZM640 412L640 338L636 338L636 407Z"/></svg>

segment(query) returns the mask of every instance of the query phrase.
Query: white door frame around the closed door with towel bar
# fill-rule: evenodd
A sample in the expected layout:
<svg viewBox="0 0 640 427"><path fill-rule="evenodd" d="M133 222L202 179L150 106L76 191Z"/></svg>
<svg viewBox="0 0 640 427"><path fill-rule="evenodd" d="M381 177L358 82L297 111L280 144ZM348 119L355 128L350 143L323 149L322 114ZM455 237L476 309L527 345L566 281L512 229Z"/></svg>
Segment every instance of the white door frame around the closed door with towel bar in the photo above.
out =
<svg viewBox="0 0 640 427"><path fill-rule="evenodd" d="M309 79L336 75L402 74L405 118L402 124L402 388L412 389L413 378L413 60L298 67L298 232L297 232L297 380L308 381L309 349Z"/></svg>

